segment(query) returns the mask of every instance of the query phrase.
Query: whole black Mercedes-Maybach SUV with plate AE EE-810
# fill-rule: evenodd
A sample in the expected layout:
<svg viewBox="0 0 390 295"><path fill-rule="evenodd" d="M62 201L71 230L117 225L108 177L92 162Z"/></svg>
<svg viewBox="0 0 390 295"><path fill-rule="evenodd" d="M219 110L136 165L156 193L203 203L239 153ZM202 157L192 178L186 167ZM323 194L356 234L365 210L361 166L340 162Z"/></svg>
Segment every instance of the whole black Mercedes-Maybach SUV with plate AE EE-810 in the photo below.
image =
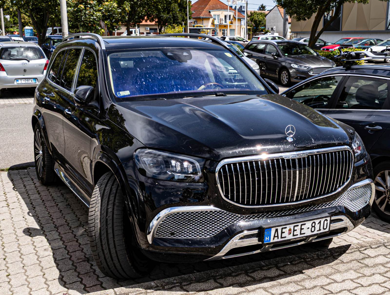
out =
<svg viewBox="0 0 390 295"><path fill-rule="evenodd" d="M275 94L202 36L72 35L35 91L37 176L60 177L89 207L107 276L142 276L149 259L326 245L371 212L357 133Z"/></svg>

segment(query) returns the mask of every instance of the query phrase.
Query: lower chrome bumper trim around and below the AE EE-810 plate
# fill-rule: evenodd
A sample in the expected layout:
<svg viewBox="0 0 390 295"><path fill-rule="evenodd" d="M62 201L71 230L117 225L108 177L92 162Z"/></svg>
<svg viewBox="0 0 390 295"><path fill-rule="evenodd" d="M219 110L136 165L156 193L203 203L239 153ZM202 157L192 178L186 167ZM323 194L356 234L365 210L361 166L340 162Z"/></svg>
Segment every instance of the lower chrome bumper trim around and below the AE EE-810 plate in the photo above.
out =
<svg viewBox="0 0 390 295"><path fill-rule="evenodd" d="M333 222L332 222L333 221ZM350 232L353 230L354 226L352 222L346 217L346 216L333 216L331 218L331 224L330 224L330 230L335 230L338 228L346 228L344 232L336 233L334 235L327 235L325 237L308 237L307 239L296 242L294 244L288 244L288 245L282 245L282 246L277 246L277 244L273 245L266 245L261 247L260 249L250 251L250 252L245 252L245 253L239 253L239 254L233 254L233 255L226 255L231 249L234 248L240 248L240 247L245 247L245 246L252 246L252 245L261 245L262 242L259 242L259 230L249 230L246 232L242 232L241 234L236 235L233 239L231 239L225 247L215 256L206 259L205 261L208 260L218 260L218 259L225 259L225 258L234 258L234 257L239 257L239 256L244 256L244 255L250 255L250 254L255 254L255 253L260 253L264 251L272 251L272 250L278 250L278 249L285 249L293 246L298 246L302 244L306 244L309 242L316 242L316 241L321 241L325 239L329 239L332 237L337 237L342 234L346 234L347 232ZM245 238L248 236L248 238Z"/></svg>

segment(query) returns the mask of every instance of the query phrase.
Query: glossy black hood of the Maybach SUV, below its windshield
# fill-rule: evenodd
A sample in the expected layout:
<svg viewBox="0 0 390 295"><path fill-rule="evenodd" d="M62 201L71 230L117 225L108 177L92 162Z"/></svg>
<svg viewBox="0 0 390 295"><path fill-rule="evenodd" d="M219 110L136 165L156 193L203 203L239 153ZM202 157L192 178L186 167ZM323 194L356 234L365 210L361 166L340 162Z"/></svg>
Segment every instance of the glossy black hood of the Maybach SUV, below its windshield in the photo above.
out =
<svg viewBox="0 0 390 295"><path fill-rule="evenodd" d="M148 148L213 160L349 144L336 121L276 94L122 102L108 116Z"/></svg>

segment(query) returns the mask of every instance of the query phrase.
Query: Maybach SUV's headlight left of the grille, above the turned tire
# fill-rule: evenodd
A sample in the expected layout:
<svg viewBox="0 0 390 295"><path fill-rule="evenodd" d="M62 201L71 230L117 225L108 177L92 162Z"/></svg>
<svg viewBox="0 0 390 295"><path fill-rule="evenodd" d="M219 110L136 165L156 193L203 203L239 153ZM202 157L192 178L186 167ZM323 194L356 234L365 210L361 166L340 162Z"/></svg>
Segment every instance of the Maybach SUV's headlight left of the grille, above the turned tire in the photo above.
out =
<svg viewBox="0 0 390 295"><path fill-rule="evenodd" d="M194 158L151 149L138 149L134 156L138 171L147 177L185 182L197 182L202 177Z"/></svg>

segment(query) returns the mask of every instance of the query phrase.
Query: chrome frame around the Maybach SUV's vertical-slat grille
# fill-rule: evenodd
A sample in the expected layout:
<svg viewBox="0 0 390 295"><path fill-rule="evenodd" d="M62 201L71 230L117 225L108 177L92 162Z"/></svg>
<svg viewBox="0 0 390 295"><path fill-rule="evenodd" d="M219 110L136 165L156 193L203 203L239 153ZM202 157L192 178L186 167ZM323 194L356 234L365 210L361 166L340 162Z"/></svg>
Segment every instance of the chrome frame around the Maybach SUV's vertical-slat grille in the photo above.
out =
<svg viewBox="0 0 390 295"><path fill-rule="evenodd" d="M307 200L300 200L300 201L298 200L296 202L271 204L271 205L242 205L242 204L239 204L239 203L236 203L236 202L229 200L223 194L223 191L222 191L222 188L220 186L219 179L218 179L218 172L223 165L229 164L229 163L238 163L238 162L256 161L256 160L270 160L270 159L280 159L280 158L285 158L285 159L293 159L294 158L294 159L296 159L296 158L303 158L303 157L306 157L309 155L317 155L320 153L334 152L334 151L345 151L345 150L347 150L351 153L352 160L354 163L355 162L355 154L353 153L352 149L349 148L349 146L335 146L335 147L331 147L331 148L311 149L311 150L306 150L306 151L293 151L293 152L275 153L275 154L262 154L262 155L255 155L255 156L245 156L245 157L224 159L218 163L218 165L215 169L216 183L217 183L218 190L219 190L220 195L223 198L223 200L229 202L230 204L234 204L236 206L243 207L243 208L280 207L280 206L286 206L286 205L296 205L296 204L311 202L311 201L325 198L325 197L328 197L328 196L333 195L335 193L338 193L343 188L345 188L347 186L347 184L349 183L349 181L351 181L353 167L355 167L355 166L351 165L351 171L349 172L349 177L348 177L347 181L344 183L344 185L340 186L340 188L333 191L332 193L328 193L326 195L322 195L322 196L316 197L316 198L310 198Z"/></svg>

